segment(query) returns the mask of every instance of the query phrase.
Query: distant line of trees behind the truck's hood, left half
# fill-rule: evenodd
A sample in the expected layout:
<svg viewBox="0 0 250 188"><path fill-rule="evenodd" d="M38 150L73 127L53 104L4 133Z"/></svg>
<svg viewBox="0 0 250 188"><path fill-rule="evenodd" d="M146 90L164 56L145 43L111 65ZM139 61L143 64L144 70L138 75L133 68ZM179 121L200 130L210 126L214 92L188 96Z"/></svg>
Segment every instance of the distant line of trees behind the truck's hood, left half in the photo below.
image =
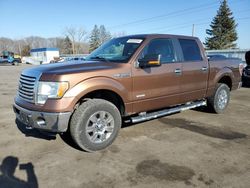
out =
<svg viewBox="0 0 250 188"><path fill-rule="evenodd" d="M90 33L83 27L71 26L64 29L61 37L30 36L16 40L0 37L0 53L7 50L21 56L29 56L31 49L46 47L58 48L60 54L88 54L107 40L123 35L124 32L111 35L104 25L95 25Z"/></svg>

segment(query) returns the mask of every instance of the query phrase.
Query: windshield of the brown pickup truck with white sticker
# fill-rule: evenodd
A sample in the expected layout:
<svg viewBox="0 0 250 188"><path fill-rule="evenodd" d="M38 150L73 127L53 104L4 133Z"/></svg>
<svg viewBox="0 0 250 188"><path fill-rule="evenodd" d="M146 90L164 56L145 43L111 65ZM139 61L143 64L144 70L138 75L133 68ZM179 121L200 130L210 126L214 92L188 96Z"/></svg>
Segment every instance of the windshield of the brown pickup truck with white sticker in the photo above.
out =
<svg viewBox="0 0 250 188"><path fill-rule="evenodd" d="M93 51L86 60L126 63L143 42L143 38L115 38Z"/></svg>

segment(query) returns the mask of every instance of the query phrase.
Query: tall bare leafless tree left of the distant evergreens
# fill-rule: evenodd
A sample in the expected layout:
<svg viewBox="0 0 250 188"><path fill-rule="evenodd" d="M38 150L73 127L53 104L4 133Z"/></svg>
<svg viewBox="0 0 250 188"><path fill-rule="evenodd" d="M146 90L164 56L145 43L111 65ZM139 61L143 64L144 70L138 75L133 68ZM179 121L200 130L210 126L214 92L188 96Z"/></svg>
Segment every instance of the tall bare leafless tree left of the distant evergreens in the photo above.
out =
<svg viewBox="0 0 250 188"><path fill-rule="evenodd" d="M65 28L64 34L65 36L68 36L72 42L73 54L79 53L80 46L78 44L83 41L84 36L87 34L85 29L83 27L77 28L70 26Z"/></svg>

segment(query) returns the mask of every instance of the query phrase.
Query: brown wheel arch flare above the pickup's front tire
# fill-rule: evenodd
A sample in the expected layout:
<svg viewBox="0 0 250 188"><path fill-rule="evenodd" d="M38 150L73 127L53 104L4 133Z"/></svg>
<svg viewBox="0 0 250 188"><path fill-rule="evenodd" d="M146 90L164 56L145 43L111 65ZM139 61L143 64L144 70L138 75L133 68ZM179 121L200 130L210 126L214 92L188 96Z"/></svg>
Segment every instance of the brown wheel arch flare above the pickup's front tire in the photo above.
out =
<svg viewBox="0 0 250 188"><path fill-rule="evenodd" d="M108 77L89 78L84 80L67 91L64 97L76 97L80 100L86 94L96 90L110 90L117 93L124 102L129 100L128 88L124 87L119 81Z"/></svg>

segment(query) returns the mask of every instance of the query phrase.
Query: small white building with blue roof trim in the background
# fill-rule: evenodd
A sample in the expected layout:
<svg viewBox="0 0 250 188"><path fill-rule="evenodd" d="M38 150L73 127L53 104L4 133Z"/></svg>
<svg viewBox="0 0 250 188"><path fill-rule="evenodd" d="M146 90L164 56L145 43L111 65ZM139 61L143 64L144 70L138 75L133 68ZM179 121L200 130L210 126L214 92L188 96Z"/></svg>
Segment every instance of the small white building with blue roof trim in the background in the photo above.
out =
<svg viewBox="0 0 250 188"><path fill-rule="evenodd" d="M35 48L30 50L30 60L32 62L27 62L31 64L47 64L51 60L54 60L54 57L59 57L58 48Z"/></svg>

